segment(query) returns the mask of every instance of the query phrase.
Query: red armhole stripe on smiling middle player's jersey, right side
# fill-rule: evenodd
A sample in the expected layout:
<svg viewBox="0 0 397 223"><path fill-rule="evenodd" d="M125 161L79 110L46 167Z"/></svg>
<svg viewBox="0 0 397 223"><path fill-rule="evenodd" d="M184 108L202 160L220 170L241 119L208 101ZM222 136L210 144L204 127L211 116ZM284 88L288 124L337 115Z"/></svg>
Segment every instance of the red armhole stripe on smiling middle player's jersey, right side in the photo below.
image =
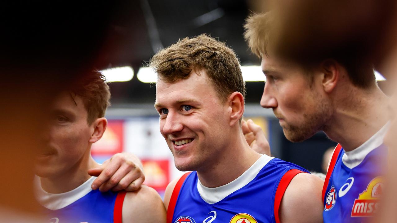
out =
<svg viewBox="0 0 397 223"><path fill-rule="evenodd" d="M279 209L281 204L281 199L283 198L285 190L291 180L298 174L298 173L305 173L299 169L290 169L286 173L284 173L283 177L281 177L280 183L277 186L276 195L274 196L274 219L276 223L280 223L279 219Z"/></svg>

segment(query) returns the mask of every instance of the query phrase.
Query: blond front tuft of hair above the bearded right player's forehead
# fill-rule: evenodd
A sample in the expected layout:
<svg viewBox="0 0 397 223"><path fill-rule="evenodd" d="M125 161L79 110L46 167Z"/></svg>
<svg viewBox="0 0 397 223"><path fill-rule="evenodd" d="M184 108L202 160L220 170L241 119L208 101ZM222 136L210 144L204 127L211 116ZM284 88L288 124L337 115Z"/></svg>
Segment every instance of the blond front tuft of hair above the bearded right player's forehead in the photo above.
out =
<svg viewBox="0 0 397 223"><path fill-rule="evenodd" d="M268 55L266 48L270 41L272 22L273 19L270 12L252 14L245 20L245 41L247 41L251 51L259 58Z"/></svg>

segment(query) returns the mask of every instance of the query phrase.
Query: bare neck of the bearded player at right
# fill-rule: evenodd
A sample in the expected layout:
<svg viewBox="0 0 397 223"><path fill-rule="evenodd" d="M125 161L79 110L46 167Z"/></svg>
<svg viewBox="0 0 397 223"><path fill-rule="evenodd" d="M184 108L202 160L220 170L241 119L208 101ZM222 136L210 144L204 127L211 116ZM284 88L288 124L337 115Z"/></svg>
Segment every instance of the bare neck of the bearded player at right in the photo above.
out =
<svg viewBox="0 0 397 223"><path fill-rule="evenodd" d="M324 132L345 151L366 142L388 121L387 96L379 89L355 90L335 104L335 113Z"/></svg>

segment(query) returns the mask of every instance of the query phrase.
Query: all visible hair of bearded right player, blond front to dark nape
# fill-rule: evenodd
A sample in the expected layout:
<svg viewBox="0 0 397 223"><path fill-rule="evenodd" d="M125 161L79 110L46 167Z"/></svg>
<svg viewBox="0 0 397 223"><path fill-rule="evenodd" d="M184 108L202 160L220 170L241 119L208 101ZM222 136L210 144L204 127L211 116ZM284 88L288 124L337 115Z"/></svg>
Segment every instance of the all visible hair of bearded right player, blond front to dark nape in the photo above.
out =
<svg viewBox="0 0 397 223"><path fill-rule="evenodd" d="M276 14L272 12L266 12L253 14L246 19L244 38L251 51L259 58L268 56L269 48L271 48L272 53L297 62L304 69L317 65L326 59L334 59L345 67L351 83L356 87L368 88L376 83L373 65L368 60L364 60L360 55L357 55L358 53L351 48L341 47L333 49L332 52L325 50L321 52L321 50L316 51L318 49L314 50L310 46L307 46L307 48L305 46L296 46L295 48L301 49L301 52L293 53L289 50L292 47L280 47L283 44L283 39L285 39L283 35L286 35L287 32L280 34L280 27L277 27L280 23L276 21L275 16ZM298 44L298 41L295 44ZM322 46L316 47L321 48ZM323 46L323 48L326 47ZM313 51L312 54L310 54L311 50Z"/></svg>

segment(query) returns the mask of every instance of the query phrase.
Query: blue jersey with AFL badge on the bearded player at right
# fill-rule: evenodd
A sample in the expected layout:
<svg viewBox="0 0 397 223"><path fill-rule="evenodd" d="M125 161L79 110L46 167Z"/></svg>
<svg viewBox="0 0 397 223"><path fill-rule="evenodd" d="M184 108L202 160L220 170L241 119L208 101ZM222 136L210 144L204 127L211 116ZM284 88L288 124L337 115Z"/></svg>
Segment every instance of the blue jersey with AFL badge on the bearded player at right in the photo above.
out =
<svg viewBox="0 0 397 223"><path fill-rule="evenodd" d="M335 148L322 193L324 223L366 222L378 211L387 127L352 151L345 152L339 144Z"/></svg>

